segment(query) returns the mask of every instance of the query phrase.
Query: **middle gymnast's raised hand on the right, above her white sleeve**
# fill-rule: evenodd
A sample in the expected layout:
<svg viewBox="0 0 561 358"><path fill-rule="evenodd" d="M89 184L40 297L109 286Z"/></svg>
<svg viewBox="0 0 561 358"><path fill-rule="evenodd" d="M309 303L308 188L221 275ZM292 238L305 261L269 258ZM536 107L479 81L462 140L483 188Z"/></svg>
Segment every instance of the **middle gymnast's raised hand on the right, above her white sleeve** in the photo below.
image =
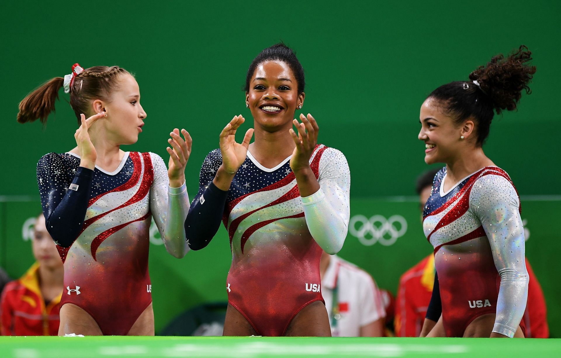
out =
<svg viewBox="0 0 561 358"><path fill-rule="evenodd" d="M302 123L297 119L293 120L298 133L294 129L290 129L290 135L296 144L290 159L290 168L295 174L298 171L310 169L310 157L318 143L318 122L309 113L307 116L300 114L300 120Z"/></svg>

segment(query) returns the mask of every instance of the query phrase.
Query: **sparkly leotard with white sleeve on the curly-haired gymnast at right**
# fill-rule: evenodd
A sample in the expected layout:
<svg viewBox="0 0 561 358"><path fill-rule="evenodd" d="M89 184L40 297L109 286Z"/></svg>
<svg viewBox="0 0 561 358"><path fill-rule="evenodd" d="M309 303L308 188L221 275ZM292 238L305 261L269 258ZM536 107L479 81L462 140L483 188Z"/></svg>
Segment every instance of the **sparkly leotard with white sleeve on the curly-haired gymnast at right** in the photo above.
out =
<svg viewBox="0 0 561 358"><path fill-rule="evenodd" d="M445 193L446 168L434 179L423 228L434 247L448 337L496 314L493 332L513 337L526 308L528 273L520 203L508 174L488 166Z"/></svg>

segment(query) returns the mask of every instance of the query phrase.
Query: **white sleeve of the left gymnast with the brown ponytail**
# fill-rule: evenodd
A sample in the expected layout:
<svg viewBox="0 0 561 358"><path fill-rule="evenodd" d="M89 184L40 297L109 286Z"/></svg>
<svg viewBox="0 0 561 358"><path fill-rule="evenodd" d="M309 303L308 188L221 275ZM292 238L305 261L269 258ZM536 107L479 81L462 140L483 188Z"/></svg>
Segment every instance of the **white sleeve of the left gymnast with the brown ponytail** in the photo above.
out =
<svg viewBox="0 0 561 358"><path fill-rule="evenodd" d="M162 157L150 153L154 167L154 182L150 187L150 211L158 226L165 249L177 258L188 252L185 239L185 218L189 211L189 196L185 183L179 188L169 187L167 167Z"/></svg>

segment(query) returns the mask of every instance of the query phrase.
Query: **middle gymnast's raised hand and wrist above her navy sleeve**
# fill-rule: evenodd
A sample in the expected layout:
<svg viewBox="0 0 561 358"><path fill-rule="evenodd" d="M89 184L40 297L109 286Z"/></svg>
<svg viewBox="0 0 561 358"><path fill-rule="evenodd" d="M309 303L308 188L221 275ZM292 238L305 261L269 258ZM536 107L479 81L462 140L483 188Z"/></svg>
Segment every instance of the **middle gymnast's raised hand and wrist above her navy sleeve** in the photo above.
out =
<svg viewBox="0 0 561 358"><path fill-rule="evenodd" d="M222 164L217 170L213 183L220 190L228 190L234 175L245 161L247 149L251 136L253 136L253 128L247 129L243 141L236 142L236 131L240 125L245 122L245 118L236 115L230 123L220 132L220 153L222 153Z"/></svg>

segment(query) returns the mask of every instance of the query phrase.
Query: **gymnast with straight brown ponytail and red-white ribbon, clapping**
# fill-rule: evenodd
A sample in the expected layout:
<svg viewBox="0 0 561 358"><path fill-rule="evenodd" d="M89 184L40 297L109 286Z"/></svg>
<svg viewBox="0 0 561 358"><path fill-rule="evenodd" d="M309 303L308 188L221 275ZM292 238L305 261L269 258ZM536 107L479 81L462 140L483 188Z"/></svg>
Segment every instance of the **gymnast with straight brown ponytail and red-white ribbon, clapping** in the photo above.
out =
<svg viewBox="0 0 561 358"><path fill-rule="evenodd" d="M76 147L37 164L47 230L64 263L58 334L154 335L149 227L154 218L174 257L188 252L191 137L170 133L168 168L157 154L121 150L138 140L146 112L135 77L118 66L75 64L27 95L17 121L45 124L61 87L76 114Z"/></svg>

